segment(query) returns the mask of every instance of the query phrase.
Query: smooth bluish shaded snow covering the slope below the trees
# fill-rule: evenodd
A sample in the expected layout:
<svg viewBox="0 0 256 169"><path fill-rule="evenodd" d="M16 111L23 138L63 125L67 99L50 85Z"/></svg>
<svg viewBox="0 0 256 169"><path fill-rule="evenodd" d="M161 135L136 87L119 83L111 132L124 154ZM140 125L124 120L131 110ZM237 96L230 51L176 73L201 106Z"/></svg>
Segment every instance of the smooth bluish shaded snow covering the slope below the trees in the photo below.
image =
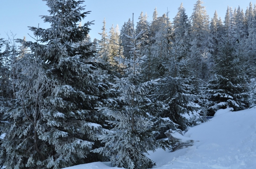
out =
<svg viewBox="0 0 256 169"><path fill-rule="evenodd" d="M256 169L256 107L238 112L219 110L209 121L184 134L194 145L175 152L149 152L157 169ZM117 169L88 163L66 169ZM120 169L120 168L118 168Z"/></svg>

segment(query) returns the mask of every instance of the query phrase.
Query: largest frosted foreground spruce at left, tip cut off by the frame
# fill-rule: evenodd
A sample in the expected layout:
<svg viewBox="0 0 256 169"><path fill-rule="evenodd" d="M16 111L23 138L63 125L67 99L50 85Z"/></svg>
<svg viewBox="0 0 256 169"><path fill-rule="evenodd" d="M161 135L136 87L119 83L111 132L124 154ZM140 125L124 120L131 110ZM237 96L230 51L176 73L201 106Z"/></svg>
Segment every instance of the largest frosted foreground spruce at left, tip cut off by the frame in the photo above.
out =
<svg viewBox="0 0 256 169"><path fill-rule="evenodd" d="M37 42L23 42L31 49L15 62L12 108L4 114L6 137L0 161L6 169L59 169L99 161L90 150L97 142L104 117L95 111L108 88L101 64L88 62L90 45L74 46L87 37L90 22L77 23L83 1L45 0L50 28L30 27ZM101 99L101 102L100 102Z"/></svg>

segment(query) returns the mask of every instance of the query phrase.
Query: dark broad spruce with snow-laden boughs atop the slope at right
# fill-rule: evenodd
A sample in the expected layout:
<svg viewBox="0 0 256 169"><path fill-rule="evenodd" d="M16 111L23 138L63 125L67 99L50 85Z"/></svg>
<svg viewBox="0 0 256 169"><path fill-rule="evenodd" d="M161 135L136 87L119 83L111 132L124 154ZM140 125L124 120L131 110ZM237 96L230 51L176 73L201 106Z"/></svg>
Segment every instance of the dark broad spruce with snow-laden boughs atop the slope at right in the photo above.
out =
<svg viewBox="0 0 256 169"><path fill-rule="evenodd" d="M214 115L218 109L233 107L235 111L249 107L248 79L235 53L234 46L227 42L218 55L214 57L215 78L209 81L208 113Z"/></svg>

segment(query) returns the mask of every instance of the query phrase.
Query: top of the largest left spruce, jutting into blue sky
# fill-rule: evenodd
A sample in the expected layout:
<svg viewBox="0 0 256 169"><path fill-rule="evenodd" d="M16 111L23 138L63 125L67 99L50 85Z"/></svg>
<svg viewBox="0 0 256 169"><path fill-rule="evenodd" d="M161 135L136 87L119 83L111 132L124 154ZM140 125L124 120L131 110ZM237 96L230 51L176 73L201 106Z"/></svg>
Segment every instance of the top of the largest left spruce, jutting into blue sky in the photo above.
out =
<svg viewBox="0 0 256 169"><path fill-rule="evenodd" d="M79 27L78 23L81 19L86 17L86 14L90 14L90 11L81 13L85 6L81 6L83 0L43 0L47 2L47 6L50 8L50 16L41 16L44 22L51 23L51 28L42 29L29 27L31 31L34 31L35 37L38 36L41 42L49 42L52 39L59 39L61 43L65 42L81 42L86 37L90 28L88 25L93 24L87 22L84 26ZM51 35L51 36L49 36Z"/></svg>

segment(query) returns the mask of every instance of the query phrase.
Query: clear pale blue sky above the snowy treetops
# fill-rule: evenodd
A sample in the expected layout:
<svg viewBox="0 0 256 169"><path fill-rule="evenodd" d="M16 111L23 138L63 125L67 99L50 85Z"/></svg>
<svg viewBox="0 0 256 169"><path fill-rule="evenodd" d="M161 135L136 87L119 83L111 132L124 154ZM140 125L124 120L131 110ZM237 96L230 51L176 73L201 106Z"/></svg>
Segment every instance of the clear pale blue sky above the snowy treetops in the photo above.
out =
<svg viewBox="0 0 256 169"><path fill-rule="evenodd" d="M192 14L194 4L197 0L85 0L86 11L91 11L87 15L84 22L95 20L95 25L90 28L90 37L100 39L102 28L102 21L105 17L106 28L109 30L111 25L119 25L121 29L124 22L127 22L134 13L134 20L140 16L141 11L148 14L148 21L152 20L154 8L157 7L158 16L163 15L169 11L169 17L175 17L177 8L180 3L183 3L186 9L186 14L189 17ZM244 9L244 12L249 6L251 0L203 0L206 6L207 14L210 18L213 17L215 10L218 16L224 20L227 6ZM255 2L253 2L253 5ZM39 26L41 28L49 28L49 24L39 17L39 15L48 15L48 7L46 2L42 0L1 0L0 5L0 37L6 38L6 33L11 35L16 34L15 38L23 39L26 36L27 40L32 40L28 33L32 35L27 26Z"/></svg>

